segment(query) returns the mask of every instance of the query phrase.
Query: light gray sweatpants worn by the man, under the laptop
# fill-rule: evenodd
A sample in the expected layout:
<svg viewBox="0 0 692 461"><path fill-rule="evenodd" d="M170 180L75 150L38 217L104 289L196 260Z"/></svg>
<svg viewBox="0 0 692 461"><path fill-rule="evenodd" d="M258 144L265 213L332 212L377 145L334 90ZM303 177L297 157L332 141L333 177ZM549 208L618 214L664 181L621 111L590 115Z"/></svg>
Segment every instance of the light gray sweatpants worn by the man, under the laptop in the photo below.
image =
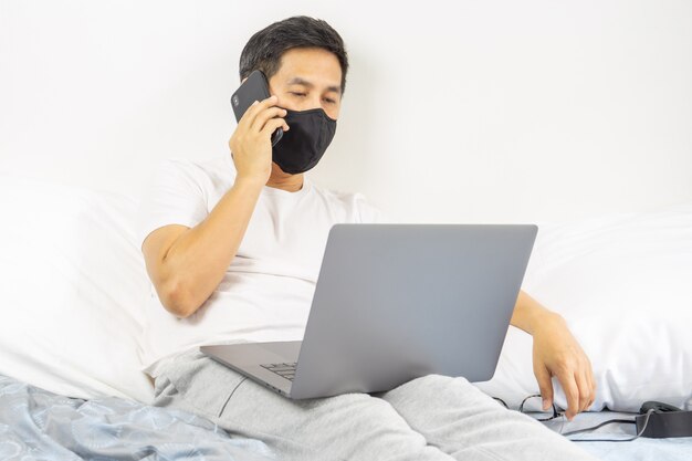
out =
<svg viewBox="0 0 692 461"><path fill-rule="evenodd" d="M594 460L463 378L430 375L373 397L291 400L198 349L159 370L154 405L263 440L286 460Z"/></svg>

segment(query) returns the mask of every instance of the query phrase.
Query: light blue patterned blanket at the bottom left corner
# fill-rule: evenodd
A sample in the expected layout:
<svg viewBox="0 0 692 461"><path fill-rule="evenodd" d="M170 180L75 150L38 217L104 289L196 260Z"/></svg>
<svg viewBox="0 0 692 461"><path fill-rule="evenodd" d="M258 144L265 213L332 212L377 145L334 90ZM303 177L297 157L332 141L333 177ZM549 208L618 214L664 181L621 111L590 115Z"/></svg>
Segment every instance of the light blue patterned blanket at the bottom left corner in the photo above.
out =
<svg viewBox="0 0 692 461"><path fill-rule="evenodd" d="M274 460L198 416L117 397L69 398L0 375L0 460Z"/></svg>

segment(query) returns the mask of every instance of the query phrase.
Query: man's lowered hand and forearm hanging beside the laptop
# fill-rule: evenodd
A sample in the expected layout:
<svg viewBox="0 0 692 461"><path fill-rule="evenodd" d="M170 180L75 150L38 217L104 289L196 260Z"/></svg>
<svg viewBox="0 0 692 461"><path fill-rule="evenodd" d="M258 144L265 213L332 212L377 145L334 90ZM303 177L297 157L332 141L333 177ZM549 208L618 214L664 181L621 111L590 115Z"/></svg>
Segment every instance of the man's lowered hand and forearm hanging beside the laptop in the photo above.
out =
<svg viewBox="0 0 692 461"><path fill-rule="evenodd" d="M543 397L543 409L547 410L553 405L552 377L555 376L567 397L567 419L572 420L579 411L588 410L596 399L591 363L563 317L522 291L514 307L512 325L534 338L534 375Z"/></svg>

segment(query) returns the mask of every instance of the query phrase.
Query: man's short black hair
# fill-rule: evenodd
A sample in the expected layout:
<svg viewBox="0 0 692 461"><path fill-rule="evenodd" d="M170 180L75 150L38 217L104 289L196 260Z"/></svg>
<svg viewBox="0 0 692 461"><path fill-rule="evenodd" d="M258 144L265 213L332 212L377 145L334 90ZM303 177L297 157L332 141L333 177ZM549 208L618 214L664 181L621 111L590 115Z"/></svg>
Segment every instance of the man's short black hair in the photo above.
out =
<svg viewBox="0 0 692 461"><path fill-rule="evenodd" d="M348 55L340 35L321 19L296 15L274 22L250 38L240 54L240 80L260 70L271 78L281 65L281 56L293 48L321 48L338 59L342 66L342 94L346 90Z"/></svg>

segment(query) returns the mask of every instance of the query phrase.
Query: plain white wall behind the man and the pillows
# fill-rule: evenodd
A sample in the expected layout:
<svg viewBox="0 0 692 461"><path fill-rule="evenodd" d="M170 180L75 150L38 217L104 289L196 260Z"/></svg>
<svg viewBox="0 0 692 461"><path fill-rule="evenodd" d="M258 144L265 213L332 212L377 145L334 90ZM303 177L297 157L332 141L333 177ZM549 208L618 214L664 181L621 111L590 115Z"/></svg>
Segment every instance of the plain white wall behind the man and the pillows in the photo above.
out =
<svg viewBox="0 0 692 461"><path fill-rule="evenodd" d="M692 201L686 0L0 0L0 172L138 195L228 151L240 51L292 14L350 55L327 187L405 221Z"/></svg>

